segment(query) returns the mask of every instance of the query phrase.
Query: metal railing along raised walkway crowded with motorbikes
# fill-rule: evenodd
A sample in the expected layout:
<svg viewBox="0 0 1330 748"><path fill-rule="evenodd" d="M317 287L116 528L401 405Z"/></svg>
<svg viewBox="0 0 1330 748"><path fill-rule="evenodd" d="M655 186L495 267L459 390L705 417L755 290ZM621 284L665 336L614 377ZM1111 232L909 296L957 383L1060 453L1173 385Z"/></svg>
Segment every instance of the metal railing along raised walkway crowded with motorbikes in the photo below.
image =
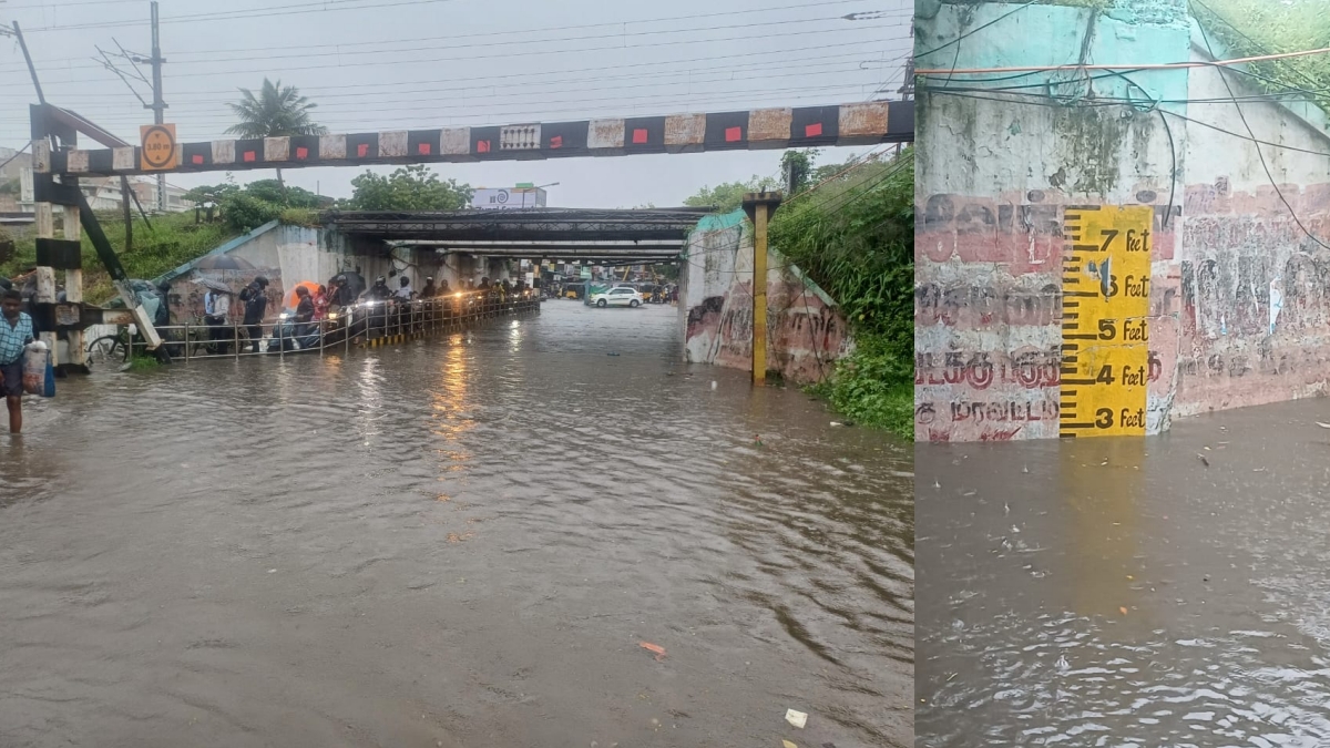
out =
<svg viewBox="0 0 1330 748"><path fill-rule="evenodd" d="M162 347L172 359L245 358L298 353L350 351L351 346L376 346L408 337L452 333L499 317L540 311L536 291L495 294L456 291L410 302L366 301L332 307L325 319L295 322L282 313L277 322L261 325L190 323L157 326ZM93 341L90 349L105 338ZM121 330L117 351L129 359L142 355L148 343L132 330Z"/></svg>

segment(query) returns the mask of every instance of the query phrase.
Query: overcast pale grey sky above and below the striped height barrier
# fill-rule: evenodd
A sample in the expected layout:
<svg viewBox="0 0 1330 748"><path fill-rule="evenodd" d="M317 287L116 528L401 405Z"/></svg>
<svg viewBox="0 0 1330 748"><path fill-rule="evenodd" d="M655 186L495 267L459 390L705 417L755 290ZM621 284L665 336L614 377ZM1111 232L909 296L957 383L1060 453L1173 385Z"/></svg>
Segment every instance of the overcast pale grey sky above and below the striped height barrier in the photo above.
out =
<svg viewBox="0 0 1330 748"><path fill-rule="evenodd" d="M331 132L504 125L899 98L912 3L903 0L201 0L161 1L166 121L182 142L226 137L227 101L263 77L299 87ZM97 48L150 51L145 0L0 0L21 24L47 100L137 142L152 122ZM854 20L846 15L858 13ZM120 61L128 72L132 65ZM142 75L152 79L148 67ZM150 88L137 83L152 101ZM0 36L0 145L28 140L36 101ZM843 161L866 149L830 149ZM781 152L438 164L472 186L549 188L549 205L678 205L702 185L777 176ZM388 172L391 168L376 168ZM350 197L350 168L290 184ZM237 172L239 182L273 172ZM222 181L176 174L172 184Z"/></svg>

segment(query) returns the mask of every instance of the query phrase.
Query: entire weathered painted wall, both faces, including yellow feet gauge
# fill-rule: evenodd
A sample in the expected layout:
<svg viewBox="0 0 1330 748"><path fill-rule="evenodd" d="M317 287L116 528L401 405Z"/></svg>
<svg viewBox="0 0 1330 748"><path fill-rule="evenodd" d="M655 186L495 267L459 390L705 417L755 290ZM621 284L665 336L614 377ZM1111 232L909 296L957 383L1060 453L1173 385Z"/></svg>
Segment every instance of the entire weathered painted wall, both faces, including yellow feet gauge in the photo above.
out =
<svg viewBox="0 0 1330 748"><path fill-rule="evenodd" d="M1119 5L1093 25L1088 9L1025 8L967 37L958 67L1065 64L1085 33L1099 64L1212 59L1174 4ZM920 20L919 47L1013 8L942 5ZM918 438L1148 434L1173 417L1323 391L1330 250L1294 222L1233 104L1181 102L1228 97L1220 73L1028 77L1041 81L1141 104L919 96ZM1260 140L1330 150L1319 110L1248 102L1242 113ZM1326 158L1265 157L1302 224L1325 237ZM1133 228L1109 237L1100 229L1112 220ZM1136 306L1121 306L1132 295ZM1120 407L1133 398L1141 407Z"/></svg>

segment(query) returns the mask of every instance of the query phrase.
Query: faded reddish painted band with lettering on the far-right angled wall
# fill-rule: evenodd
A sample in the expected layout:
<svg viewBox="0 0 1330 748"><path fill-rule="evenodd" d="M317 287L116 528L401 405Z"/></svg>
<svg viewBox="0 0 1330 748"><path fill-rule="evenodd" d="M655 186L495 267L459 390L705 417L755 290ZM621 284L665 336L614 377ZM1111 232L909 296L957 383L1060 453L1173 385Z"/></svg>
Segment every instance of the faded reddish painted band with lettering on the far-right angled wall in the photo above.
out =
<svg viewBox="0 0 1330 748"><path fill-rule="evenodd" d="M1233 190L1225 178L1186 188L1181 414L1307 397L1327 386L1330 249L1321 242L1330 237L1330 185L1285 188L1283 200L1273 189Z"/></svg>

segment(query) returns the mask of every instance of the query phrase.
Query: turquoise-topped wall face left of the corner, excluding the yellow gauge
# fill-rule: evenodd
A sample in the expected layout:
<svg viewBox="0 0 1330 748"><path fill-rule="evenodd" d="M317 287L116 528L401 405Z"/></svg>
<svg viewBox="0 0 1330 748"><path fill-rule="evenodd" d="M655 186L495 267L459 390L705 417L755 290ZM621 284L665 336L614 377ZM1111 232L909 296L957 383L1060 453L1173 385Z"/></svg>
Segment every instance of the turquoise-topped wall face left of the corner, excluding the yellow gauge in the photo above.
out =
<svg viewBox="0 0 1330 748"><path fill-rule="evenodd" d="M942 5L931 20L920 19L918 47L936 47L1013 9ZM1089 9L1029 7L998 21L991 32L968 36L959 45L956 67L1060 65L1079 59L1087 36L1087 59L1101 64L1185 55L1188 32L1174 15L1154 13L1149 17L1164 23L1153 24L1138 23L1140 15L1124 17L1101 16L1092 23ZM952 45L946 60L939 53L916 64L950 67L955 55ZM1029 76L1021 83L1041 80ZM1141 73L1132 83L1073 77L1044 83L1068 96L1093 91L1140 98L1138 85L1154 96L1186 97L1180 72ZM1057 437L1067 206L1148 206L1154 216L1154 256L1170 257L1176 222L1165 226L1164 218L1180 154L1169 144L1162 116L1132 106L1073 108L1036 96L1004 102L920 93L918 112L918 438ZM1166 395L1150 399L1157 405Z"/></svg>

